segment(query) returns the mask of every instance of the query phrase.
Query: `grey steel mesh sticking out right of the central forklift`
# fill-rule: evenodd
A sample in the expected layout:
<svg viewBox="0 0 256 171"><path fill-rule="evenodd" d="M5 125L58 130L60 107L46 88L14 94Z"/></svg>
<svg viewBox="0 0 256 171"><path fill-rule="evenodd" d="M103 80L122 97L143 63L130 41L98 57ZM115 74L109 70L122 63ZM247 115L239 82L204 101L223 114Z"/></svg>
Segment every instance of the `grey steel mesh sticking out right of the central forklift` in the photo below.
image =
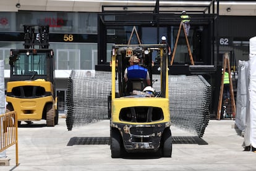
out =
<svg viewBox="0 0 256 171"><path fill-rule="evenodd" d="M211 85L202 76L169 76L169 108L174 126L203 137L210 120L210 103Z"/></svg>

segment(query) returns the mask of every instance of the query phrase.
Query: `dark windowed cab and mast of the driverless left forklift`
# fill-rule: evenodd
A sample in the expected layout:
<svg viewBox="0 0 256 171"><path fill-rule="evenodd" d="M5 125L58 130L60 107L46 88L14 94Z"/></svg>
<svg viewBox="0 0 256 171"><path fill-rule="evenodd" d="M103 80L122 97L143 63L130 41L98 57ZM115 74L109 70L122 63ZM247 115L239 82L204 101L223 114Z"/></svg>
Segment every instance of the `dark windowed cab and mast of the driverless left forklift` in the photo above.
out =
<svg viewBox="0 0 256 171"><path fill-rule="evenodd" d="M54 84L54 53L49 48L49 26L23 25L24 49L11 49L10 81L45 79Z"/></svg>

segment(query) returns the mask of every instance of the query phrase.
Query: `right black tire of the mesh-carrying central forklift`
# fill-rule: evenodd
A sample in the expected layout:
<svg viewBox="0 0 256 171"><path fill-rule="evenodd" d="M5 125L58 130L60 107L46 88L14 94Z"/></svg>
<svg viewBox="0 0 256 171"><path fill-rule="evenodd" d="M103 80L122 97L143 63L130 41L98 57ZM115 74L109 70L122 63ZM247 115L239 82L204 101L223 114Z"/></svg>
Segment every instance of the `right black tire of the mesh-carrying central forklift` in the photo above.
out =
<svg viewBox="0 0 256 171"><path fill-rule="evenodd" d="M162 148L163 157L171 157L172 151L173 151L173 140L171 137L171 130L168 128L163 133L163 148Z"/></svg>

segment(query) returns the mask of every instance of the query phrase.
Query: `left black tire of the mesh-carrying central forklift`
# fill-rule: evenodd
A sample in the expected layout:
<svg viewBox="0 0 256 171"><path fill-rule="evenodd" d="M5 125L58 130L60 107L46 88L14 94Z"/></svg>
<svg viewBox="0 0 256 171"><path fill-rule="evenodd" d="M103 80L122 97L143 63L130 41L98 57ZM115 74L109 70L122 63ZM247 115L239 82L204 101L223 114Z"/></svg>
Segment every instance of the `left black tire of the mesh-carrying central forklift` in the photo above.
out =
<svg viewBox="0 0 256 171"><path fill-rule="evenodd" d="M112 158L118 158L121 157L121 141L120 141L120 135L117 130L111 130L111 157Z"/></svg>

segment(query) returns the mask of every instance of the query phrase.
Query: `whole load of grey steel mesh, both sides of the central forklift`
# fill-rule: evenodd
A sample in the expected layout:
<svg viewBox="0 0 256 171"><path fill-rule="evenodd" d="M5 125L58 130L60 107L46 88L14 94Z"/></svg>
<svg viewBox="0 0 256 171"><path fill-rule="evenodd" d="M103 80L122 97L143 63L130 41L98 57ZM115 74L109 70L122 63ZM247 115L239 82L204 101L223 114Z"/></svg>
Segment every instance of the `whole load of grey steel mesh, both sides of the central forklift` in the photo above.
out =
<svg viewBox="0 0 256 171"><path fill-rule="evenodd" d="M153 75L160 80L160 75ZM117 85L116 85L117 88ZM160 90L160 81L153 84ZM67 129L108 117L111 73L96 71L87 78L85 71L73 70L67 88ZM169 76L169 105L173 125L202 137L210 120L211 86L202 76Z"/></svg>

